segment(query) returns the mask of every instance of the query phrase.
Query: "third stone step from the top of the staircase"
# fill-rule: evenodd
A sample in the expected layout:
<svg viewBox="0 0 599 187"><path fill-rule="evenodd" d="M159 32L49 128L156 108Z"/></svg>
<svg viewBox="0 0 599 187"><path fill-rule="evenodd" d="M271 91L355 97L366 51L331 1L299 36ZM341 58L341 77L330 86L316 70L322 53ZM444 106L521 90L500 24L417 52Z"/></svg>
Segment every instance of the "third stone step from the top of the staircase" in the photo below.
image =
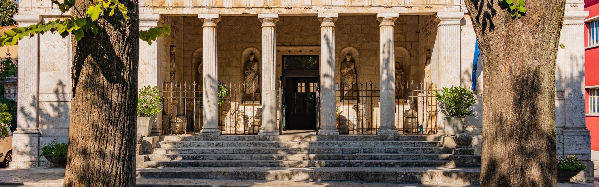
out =
<svg viewBox="0 0 599 187"><path fill-rule="evenodd" d="M429 153L443 154L443 147L170 147L155 148L153 154L318 154L318 153Z"/></svg>

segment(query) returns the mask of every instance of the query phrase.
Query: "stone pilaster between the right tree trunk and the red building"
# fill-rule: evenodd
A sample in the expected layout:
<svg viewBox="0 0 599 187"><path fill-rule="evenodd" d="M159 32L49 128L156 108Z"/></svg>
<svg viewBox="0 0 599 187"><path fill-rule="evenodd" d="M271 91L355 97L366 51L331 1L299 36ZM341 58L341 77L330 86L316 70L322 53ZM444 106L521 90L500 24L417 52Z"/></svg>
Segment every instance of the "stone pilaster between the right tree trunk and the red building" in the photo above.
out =
<svg viewBox="0 0 599 187"><path fill-rule="evenodd" d="M576 181L592 182L591 135L585 122L585 18L588 11L565 11L556 62L556 105L558 156L576 155L586 164L586 170L573 177ZM559 130L562 127L561 133ZM560 149L562 148L562 149ZM561 150L561 151L560 151Z"/></svg>

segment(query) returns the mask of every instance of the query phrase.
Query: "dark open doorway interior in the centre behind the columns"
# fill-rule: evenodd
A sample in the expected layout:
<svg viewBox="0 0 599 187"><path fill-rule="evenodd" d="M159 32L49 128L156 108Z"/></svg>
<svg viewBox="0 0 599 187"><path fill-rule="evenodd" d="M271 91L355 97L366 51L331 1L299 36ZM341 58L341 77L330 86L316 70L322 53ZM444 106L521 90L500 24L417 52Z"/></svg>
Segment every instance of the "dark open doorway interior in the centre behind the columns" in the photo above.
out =
<svg viewBox="0 0 599 187"><path fill-rule="evenodd" d="M318 55L284 55L282 130L315 130L318 103Z"/></svg>

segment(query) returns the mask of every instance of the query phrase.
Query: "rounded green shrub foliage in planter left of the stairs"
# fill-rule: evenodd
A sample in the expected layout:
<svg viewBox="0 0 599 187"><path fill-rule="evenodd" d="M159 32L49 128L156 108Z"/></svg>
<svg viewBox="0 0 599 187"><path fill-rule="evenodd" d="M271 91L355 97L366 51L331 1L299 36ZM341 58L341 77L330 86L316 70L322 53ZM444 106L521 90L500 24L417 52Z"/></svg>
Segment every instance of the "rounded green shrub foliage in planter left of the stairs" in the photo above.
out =
<svg viewBox="0 0 599 187"><path fill-rule="evenodd" d="M144 86L140 89L137 98L137 116L152 117L160 112L162 97L158 91L158 86Z"/></svg>

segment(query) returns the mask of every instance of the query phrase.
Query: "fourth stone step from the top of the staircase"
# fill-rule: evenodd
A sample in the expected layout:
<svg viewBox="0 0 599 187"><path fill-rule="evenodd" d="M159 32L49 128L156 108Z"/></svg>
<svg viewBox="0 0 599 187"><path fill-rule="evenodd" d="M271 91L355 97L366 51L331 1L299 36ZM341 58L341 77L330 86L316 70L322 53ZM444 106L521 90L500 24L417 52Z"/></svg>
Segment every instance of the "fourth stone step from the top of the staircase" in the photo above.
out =
<svg viewBox="0 0 599 187"><path fill-rule="evenodd" d="M182 160L394 160L394 161L429 161L447 160L450 154L402 154L402 153L356 153L356 154L179 154L148 155L152 161Z"/></svg>

